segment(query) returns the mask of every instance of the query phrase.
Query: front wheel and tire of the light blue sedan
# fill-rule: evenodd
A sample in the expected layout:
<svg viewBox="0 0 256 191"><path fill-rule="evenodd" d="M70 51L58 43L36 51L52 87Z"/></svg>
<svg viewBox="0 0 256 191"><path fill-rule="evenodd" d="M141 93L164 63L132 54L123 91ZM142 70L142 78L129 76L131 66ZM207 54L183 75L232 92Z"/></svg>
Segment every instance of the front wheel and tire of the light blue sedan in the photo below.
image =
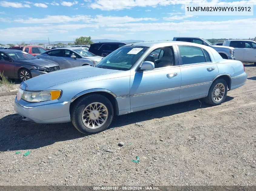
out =
<svg viewBox="0 0 256 191"><path fill-rule="evenodd" d="M114 117L113 105L100 94L89 94L78 98L71 109L71 121L84 134L104 131Z"/></svg>

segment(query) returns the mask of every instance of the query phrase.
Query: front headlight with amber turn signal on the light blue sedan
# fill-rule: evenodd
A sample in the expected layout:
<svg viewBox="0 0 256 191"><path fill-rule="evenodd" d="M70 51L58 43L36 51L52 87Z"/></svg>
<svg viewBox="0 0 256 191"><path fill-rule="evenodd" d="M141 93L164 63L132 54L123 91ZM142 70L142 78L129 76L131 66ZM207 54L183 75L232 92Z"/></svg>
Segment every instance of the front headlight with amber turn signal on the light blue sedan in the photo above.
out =
<svg viewBox="0 0 256 191"><path fill-rule="evenodd" d="M49 100L57 100L61 97L61 94L61 90L23 91L22 99L27 102L42 102Z"/></svg>

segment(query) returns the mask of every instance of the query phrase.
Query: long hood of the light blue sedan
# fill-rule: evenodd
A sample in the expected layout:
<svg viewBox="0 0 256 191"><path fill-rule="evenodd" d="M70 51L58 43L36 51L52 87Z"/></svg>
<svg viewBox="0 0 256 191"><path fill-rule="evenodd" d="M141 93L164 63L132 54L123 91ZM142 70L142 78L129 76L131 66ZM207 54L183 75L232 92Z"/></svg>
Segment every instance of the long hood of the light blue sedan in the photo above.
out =
<svg viewBox="0 0 256 191"><path fill-rule="evenodd" d="M26 90L40 91L65 82L116 72L121 71L96 68L92 66L79 66L75 68L68 68L64 70L58 70L55 72L49 72L47 74L39 75L37 77L26 80Z"/></svg>

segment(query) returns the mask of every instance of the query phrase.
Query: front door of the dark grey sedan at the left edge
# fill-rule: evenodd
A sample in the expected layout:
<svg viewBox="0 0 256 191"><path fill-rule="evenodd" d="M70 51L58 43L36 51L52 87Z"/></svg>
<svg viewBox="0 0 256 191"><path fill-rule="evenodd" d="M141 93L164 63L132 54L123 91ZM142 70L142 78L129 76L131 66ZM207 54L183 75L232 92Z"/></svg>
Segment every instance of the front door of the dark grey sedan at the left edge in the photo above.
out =
<svg viewBox="0 0 256 191"><path fill-rule="evenodd" d="M14 62L4 53L0 53L0 72L9 78L15 77Z"/></svg>

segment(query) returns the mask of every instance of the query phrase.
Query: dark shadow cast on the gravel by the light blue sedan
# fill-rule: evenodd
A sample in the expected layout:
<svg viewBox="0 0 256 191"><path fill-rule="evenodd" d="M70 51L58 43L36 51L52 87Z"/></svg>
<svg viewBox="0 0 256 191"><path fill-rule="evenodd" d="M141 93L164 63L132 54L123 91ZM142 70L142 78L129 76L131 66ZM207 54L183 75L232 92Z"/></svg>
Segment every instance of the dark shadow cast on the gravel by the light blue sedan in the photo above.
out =
<svg viewBox="0 0 256 191"><path fill-rule="evenodd" d="M227 96L225 102L234 99ZM136 122L185 113L199 108L211 107L201 100L158 107L139 111L122 116L115 116L109 128L116 128ZM26 122L18 114L11 114L0 119L0 152L36 149L55 142L81 138L84 135L78 132L72 123L38 124Z"/></svg>

